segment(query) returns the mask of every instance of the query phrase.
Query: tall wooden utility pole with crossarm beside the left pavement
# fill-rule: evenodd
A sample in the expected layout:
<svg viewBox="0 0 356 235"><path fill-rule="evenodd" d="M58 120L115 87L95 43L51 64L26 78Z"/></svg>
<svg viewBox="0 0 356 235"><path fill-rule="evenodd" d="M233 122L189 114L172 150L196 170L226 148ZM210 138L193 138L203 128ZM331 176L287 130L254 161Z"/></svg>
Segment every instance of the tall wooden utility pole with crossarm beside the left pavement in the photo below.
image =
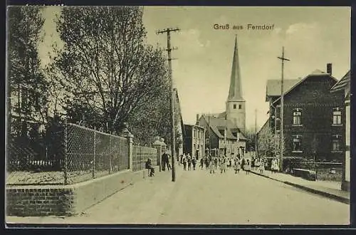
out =
<svg viewBox="0 0 356 235"><path fill-rule="evenodd" d="M171 93L171 99L170 99L170 105L171 105L171 125L172 125L172 131L171 131L171 150L172 150L172 182L175 182L176 180L176 173L175 173L175 167L174 167L174 157L176 155L176 144L175 144L175 130L174 130L174 89L173 89L173 78L172 78L172 56L171 52L172 50L175 50L176 48L171 48L171 32L176 32L179 31L179 28L165 28L164 30L157 31L157 34L159 33L167 33L167 52L168 52L168 74L169 74L169 83L170 83L170 93Z"/></svg>

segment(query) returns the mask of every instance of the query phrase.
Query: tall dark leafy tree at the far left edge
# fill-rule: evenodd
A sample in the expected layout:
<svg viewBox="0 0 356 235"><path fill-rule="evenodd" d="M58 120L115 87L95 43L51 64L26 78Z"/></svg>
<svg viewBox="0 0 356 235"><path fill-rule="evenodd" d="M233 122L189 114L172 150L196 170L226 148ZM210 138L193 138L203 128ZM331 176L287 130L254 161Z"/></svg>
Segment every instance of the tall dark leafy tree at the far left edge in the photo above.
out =
<svg viewBox="0 0 356 235"><path fill-rule="evenodd" d="M38 58L40 6L11 6L8 34L8 98L11 130L26 135L28 121L46 121L48 89Z"/></svg>

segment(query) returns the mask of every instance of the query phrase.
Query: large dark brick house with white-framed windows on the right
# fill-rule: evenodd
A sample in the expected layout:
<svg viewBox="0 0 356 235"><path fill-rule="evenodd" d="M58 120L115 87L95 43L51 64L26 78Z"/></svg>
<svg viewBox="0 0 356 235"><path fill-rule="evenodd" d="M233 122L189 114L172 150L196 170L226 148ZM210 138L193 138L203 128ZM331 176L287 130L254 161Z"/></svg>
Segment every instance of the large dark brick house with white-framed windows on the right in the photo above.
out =
<svg viewBox="0 0 356 235"><path fill-rule="evenodd" d="M329 67L329 66L328 66ZM284 156L342 160L345 140L345 108L342 92L330 93L337 80L329 73L315 71L303 79L286 83L283 98ZM269 126L280 132L281 86L269 80L266 100L270 103ZM268 87L270 85L270 87ZM278 85L277 85L278 88Z"/></svg>

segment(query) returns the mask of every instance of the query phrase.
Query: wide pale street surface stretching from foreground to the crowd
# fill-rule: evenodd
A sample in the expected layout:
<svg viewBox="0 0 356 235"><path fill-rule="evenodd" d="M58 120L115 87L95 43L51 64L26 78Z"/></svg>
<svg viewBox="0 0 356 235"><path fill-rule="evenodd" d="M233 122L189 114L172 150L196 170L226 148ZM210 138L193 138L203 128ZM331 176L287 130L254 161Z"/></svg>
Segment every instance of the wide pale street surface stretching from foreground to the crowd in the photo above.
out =
<svg viewBox="0 0 356 235"><path fill-rule="evenodd" d="M171 172L137 182L70 217L8 217L15 223L349 224L349 205L256 174Z"/></svg>

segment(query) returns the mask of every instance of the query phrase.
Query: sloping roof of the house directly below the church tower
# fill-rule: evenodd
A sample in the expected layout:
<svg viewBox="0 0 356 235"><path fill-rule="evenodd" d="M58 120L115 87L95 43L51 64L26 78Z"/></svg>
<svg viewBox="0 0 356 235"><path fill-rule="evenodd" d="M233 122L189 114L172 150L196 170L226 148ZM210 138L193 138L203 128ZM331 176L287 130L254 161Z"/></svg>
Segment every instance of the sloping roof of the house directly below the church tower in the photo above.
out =
<svg viewBox="0 0 356 235"><path fill-rule="evenodd" d="M239 127L236 127L231 120L226 120L225 118L216 117L214 115L203 115L202 116L206 122L209 122L211 130L219 137L224 138L224 130L227 127L226 138L231 140L237 140L233 132L239 132L240 140L247 140L246 137L241 133Z"/></svg>

